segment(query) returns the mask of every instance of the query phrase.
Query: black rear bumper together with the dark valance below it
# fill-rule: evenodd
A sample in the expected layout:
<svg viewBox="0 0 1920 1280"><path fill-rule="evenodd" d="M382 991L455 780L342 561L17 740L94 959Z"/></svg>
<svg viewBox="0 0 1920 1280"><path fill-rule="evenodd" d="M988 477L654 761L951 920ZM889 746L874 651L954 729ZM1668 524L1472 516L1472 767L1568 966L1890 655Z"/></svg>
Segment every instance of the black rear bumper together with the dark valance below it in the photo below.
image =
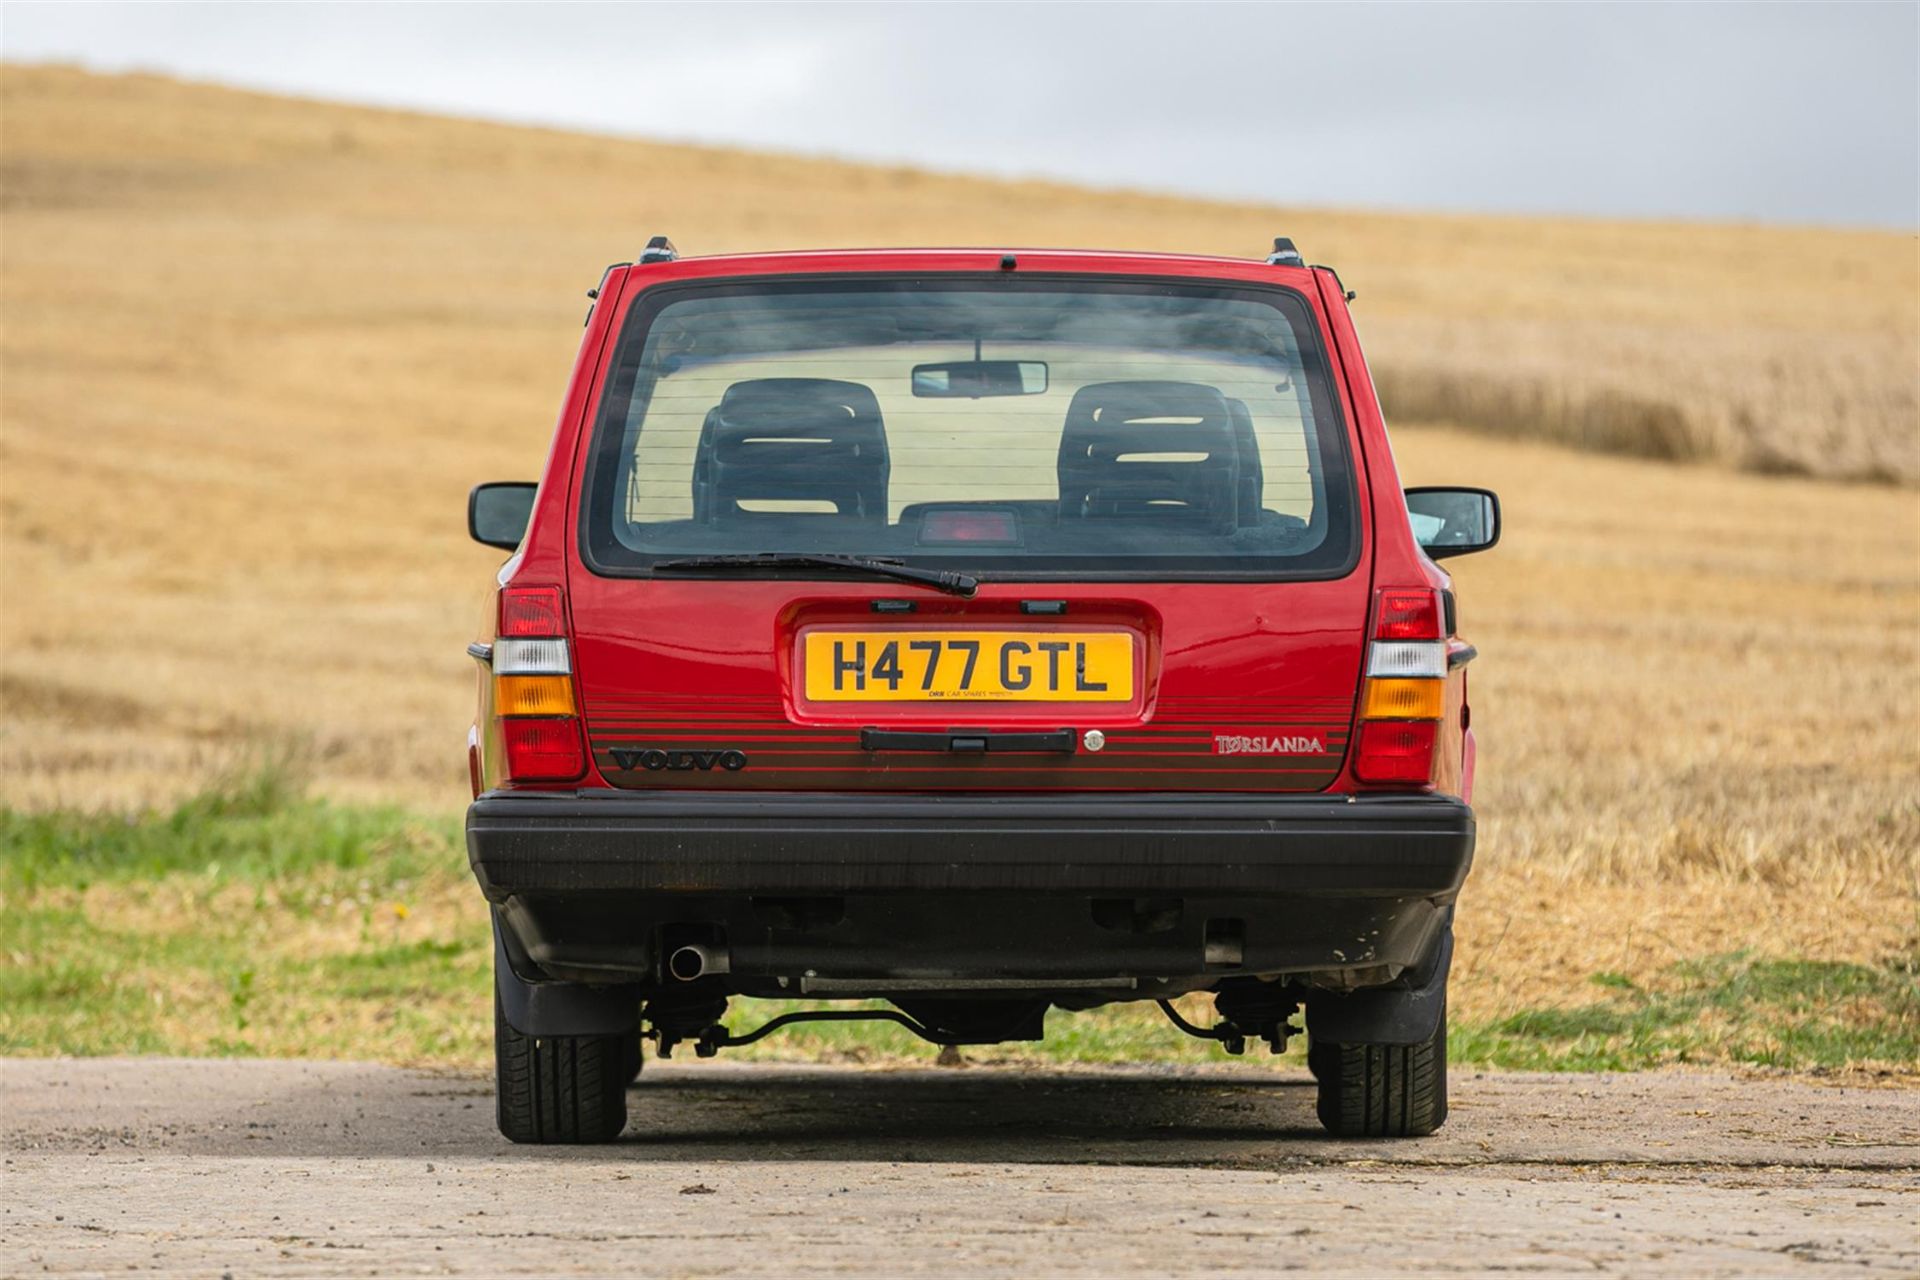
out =
<svg viewBox="0 0 1920 1280"><path fill-rule="evenodd" d="M1379 984L1432 954L1473 835L1444 796L495 793L467 814L528 977L678 990L666 958L695 942L728 992L768 996Z"/></svg>

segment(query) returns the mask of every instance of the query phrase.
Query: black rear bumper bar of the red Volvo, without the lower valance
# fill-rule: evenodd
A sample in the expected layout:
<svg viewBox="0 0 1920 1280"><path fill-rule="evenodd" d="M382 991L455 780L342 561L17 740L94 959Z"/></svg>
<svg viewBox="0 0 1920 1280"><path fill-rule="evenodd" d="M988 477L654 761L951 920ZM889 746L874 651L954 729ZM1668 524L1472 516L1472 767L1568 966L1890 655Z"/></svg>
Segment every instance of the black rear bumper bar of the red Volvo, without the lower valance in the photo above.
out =
<svg viewBox="0 0 1920 1280"><path fill-rule="evenodd" d="M1452 896L1473 810L1448 796L505 794L467 810L515 894L1069 892Z"/></svg>

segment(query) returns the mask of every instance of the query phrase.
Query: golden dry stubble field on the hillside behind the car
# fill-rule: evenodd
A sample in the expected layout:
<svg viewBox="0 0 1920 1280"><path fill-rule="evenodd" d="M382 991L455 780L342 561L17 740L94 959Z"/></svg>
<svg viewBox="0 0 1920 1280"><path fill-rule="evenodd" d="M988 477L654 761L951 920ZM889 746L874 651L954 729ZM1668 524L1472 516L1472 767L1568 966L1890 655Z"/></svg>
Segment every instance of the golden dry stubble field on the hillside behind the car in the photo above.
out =
<svg viewBox="0 0 1920 1280"><path fill-rule="evenodd" d="M1910 236L1240 207L13 65L0 200L13 810L171 804L294 752L334 800L457 812L461 647L497 560L465 491L536 474L582 292L649 234L1238 255L1290 234L1359 290L1405 478L1507 505L1505 543L1457 562L1484 654L1459 1011L1741 952L1912 975ZM480 921L459 865L349 883L284 933L261 889L46 892L94 929L252 904L259 944L303 958ZM180 984L161 1048L252 998L142 981ZM250 1044L380 1034L338 1007Z"/></svg>

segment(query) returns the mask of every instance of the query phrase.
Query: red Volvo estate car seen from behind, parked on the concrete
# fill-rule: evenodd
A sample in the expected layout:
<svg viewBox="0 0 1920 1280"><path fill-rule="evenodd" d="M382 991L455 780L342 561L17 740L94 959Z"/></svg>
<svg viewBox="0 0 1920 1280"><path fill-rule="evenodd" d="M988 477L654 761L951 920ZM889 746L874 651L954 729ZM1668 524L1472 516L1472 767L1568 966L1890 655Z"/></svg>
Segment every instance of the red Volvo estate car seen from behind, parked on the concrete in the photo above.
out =
<svg viewBox="0 0 1920 1280"><path fill-rule="evenodd" d="M1475 651L1434 560L1500 514L1402 491L1332 271L655 238L593 297L540 484L468 503L513 553L467 816L501 1132L614 1138L643 1038L1119 1000L1229 1052L1304 1013L1334 1134L1446 1119Z"/></svg>

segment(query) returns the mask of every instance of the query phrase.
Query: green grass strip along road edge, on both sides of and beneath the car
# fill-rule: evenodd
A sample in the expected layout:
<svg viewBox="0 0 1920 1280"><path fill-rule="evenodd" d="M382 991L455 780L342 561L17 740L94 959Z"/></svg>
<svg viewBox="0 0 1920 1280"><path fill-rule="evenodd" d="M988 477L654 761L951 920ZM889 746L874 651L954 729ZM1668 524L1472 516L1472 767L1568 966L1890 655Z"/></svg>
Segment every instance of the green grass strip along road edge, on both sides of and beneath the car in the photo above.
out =
<svg viewBox="0 0 1920 1280"><path fill-rule="evenodd" d="M459 823L313 800L282 768L136 816L0 810L0 1054L376 1057L482 1065L492 948ZM801 1002L743 1000L735 1032ZM837 1006L843 1007L843 1006ZM1210 1021L1204 1000L1187 1015ZM1300 1040L1288 1063L1300 1061ZM691 1054L689 1048L682 1050ZM927 1061L900 1027L808 1025L739 1057ZM1152 1006L1052 1011L973 1061L1223 1061ZM1636 1071L1920 1069L1920 956L1711 956L1596 973L1592 998L1475 1017L1459 1063ZM1265 1048L1246 1061L1267 1061Z"/></svg>

